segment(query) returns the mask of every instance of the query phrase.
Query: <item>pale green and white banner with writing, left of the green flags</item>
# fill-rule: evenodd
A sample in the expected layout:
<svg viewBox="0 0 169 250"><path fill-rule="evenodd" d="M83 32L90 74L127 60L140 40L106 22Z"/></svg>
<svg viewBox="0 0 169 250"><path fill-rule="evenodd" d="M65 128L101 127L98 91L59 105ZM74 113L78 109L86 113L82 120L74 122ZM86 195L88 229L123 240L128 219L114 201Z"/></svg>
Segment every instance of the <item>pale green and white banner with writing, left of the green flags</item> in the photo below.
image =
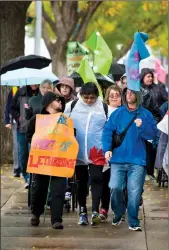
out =
<svg viewBox="0 0 169 250"><path fill-rule="evenodd" d="M80 66L80 62L84 55L88 54L88 50L78 42L69 42L66 54L67 73L71 75Z"/></svg>

